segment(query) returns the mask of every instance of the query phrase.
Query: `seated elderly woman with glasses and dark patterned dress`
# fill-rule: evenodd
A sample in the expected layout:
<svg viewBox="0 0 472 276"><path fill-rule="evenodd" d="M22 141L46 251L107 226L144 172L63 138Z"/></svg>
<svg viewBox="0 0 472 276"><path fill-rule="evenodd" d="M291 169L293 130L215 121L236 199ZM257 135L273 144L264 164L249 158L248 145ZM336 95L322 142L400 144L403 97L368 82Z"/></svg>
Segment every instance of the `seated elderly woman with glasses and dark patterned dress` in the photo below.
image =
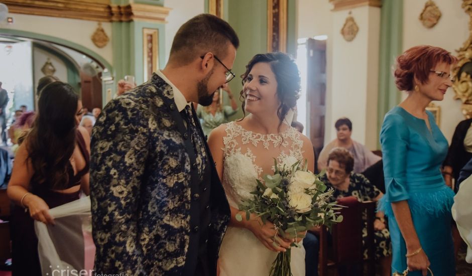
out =
<svg viewBox="0 0 472 276"><path fill-rule="evenodd" d="M329 152L326 174L322 175L320 180L328 188L334 189L334 194L328 199L334 202L341 197L353 196L359 201L378 201L384 195L379 189L372 185L362 174L353 173L354 158L348 150L344 148L334 148ZM367 221L363 230L364 244L367 238ZM382 265L382 275L391 275L391 254L390 233L386 228L384 214L376 213L374 221L376 260ZM367 258L367 248L364 250L364 256Z"/></svg>

